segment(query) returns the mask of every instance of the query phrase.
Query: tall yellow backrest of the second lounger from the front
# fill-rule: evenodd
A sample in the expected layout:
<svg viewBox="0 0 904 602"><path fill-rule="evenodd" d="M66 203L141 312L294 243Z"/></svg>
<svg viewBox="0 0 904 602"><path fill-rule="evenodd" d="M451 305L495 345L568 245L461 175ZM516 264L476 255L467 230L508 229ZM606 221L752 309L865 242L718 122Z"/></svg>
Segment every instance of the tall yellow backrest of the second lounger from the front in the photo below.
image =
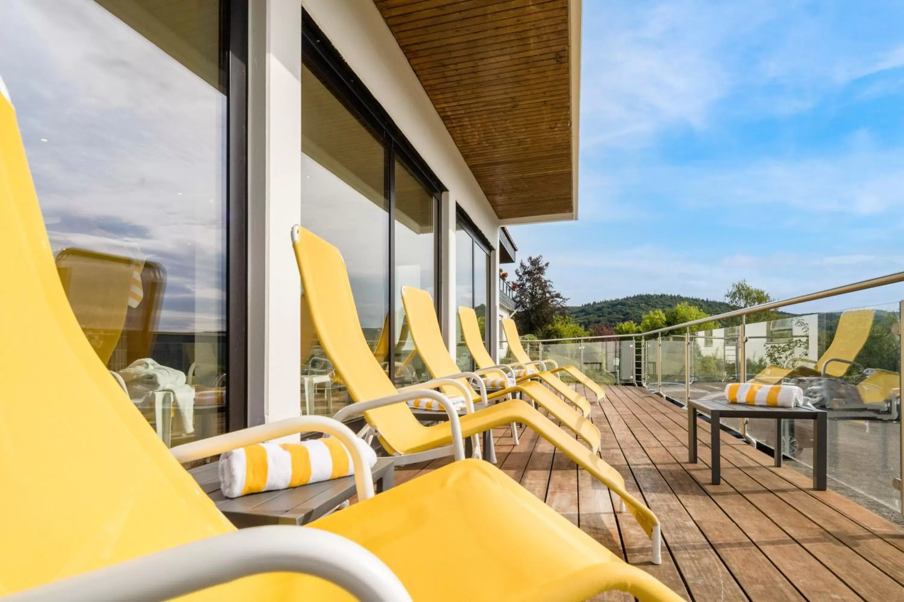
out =
<svg viewBox="0 0 904 602"><path fill-rule="evenodd" d="M339 249L301 228L295 255L317 339L354 401L396 394L364 338ZM408 449L409 437L422 428L405 403L365 412L364 417L393 449Z"/></svg>

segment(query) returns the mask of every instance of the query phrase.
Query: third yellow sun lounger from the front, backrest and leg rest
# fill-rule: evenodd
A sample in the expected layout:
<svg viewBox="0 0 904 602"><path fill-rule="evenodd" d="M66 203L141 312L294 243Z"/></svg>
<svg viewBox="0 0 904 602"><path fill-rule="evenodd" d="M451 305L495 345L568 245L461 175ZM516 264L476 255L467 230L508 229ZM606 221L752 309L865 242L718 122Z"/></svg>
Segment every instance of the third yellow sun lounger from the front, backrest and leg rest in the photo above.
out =
<svg viewBox="0 0 904 602"><path fill-rule="evenodd" d="M414 339L414 347L418 350L420 358L424 361L430 374L435 378L456 378L471 394L472 398L480 396L471 388L466 378L461 377L455 359L449 355L446 343L443 341L442 332L439 330L437 313L434 310L433 300L426 291L421 291L410 286L404 286L401 290L401 300L405 305L405 315L408 316L411 338ZM478 374L475 377L479 377ZM449 394L452 392L449 391ZM511 387L495 391L487 395L488 401L504 399L511 394L525 394L535 403L550 412L551 417L559 420L561 424L577 433L587 441L590 449L599 449L599 429L593 422L576 412L568 403L563 402L556 394L535 381L523 380ZM588 406L589 409L589 406Z"/></svg>

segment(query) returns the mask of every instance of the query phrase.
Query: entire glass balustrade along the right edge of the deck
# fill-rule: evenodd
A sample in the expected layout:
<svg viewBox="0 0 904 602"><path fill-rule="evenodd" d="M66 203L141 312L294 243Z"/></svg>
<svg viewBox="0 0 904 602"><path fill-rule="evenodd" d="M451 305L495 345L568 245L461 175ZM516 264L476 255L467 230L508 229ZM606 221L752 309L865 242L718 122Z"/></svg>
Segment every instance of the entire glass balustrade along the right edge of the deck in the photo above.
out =
<svg viewBox="0 0 904 602"><path fill-rule="evenodd" d="M766 315L774 320L756 317L744 325L743 342L735 318L720 328L661 338L525 339L523 345L532 359L577 366L600 384L643 384L675 403L724 398L728 384L745 381L799 386L807 402L828 412L830 487L861 503L865 496L899 509L893 483L901 474L899 303L809 313L789 306ZM764 451L780 444L786 466L804 473L813 467L812 421L785 421L780 442L771 420L721 424Z"/></svg>

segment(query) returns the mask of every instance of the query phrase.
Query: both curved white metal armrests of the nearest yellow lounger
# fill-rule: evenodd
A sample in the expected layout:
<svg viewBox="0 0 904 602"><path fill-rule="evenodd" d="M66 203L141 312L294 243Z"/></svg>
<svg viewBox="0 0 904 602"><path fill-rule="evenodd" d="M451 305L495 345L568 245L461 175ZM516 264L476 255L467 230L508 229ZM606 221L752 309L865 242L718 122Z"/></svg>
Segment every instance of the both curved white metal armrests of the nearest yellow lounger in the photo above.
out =
<svg viewBox="0 0 904 602"><path fill-rule="evenodd" d="M451 409L451 403L445 397L437 401L445 401ZM372 497L371 467L358 449L353 431L342 422L325 416L299 416L261 424L186 443L171 451L176 459L184 463L261 441L311 431L333 435L343 442L352 456L359 498ZM460 458L464 458L460 427L457 432L457 449L460 450ZM123 599L157 602L270 572L315 575L368 602L411 600L392 571L362 546L334 533L288 525L255 527L186 543L0 599L3 602L51 602L60 599L71 602Z"/></svg>

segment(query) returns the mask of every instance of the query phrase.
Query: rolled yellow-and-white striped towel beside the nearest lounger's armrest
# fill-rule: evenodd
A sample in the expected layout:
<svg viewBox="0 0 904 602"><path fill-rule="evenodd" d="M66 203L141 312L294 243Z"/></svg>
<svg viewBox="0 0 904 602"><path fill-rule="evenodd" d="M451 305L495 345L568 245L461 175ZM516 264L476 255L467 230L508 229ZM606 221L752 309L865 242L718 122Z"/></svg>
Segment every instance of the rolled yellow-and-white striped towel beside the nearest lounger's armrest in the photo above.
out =
<svg viewBox="0 0 904 602"><path fill-rule="evenodd" d="M364 441L357 441L371 466L377 454ZM354 474L352 456L338 439L301 443L259 443L233 449L220 457L220 489L226 497L257 494L328 481Z"/></svg>

